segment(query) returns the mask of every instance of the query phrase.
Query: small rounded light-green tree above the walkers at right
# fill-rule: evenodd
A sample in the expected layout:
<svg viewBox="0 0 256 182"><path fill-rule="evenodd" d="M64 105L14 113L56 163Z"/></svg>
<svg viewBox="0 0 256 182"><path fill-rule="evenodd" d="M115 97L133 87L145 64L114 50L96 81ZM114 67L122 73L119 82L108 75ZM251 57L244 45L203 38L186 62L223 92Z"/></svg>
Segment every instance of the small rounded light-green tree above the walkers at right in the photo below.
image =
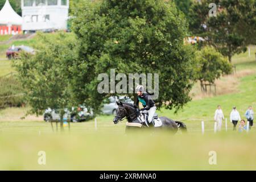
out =
<svg viewBox="0 0 256 182"><path fill-rule="evenodd" d="M204 47L196 52L196 75L201 87L203 82L213 84L221 75L231 72L232 65L214 48Z"/></svg>

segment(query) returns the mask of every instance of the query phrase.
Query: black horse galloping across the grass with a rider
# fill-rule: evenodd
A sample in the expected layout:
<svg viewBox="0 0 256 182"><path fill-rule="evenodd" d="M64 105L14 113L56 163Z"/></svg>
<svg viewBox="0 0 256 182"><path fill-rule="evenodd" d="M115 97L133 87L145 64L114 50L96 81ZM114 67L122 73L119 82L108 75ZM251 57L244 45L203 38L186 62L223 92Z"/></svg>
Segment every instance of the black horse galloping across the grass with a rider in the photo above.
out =
<svg viewBox="0 0 256 182"><path fill-rule="evenodd" d="M127 118L126 123L126 130L130 129L143 129L143 128L154 128L154 129L168 129L170 131L173 131L174 133L177 132L177 130L180 128L181 131L187 131L187 126L183 122L174 121L167 117L160 117L159 119L162 121L162 126L160 127L154 127L147 125L145 122L141 122L138 119L138 116L141 114L139 113L133 104L129 104L127 102L117 102L118 108L117 108L117 114L115 115L113 122L114 124L117 124L119 121L122 121L123 119ZM154 117L155 119L158 119L158 117Z"/></svg>

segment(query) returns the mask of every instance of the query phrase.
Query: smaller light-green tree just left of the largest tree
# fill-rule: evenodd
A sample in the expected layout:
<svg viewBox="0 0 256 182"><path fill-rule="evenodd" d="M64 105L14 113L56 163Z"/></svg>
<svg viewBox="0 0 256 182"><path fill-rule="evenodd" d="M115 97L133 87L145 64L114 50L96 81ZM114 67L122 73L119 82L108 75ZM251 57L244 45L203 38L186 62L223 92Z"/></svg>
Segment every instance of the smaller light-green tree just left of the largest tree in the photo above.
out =
<svg viewBox="0 0 256 182"><path fill-rule="evenodd" d="M36 54L23 53L14 67L22 82L24 97L31 106L28 114L43 114L48 107L60 110L63 128L64 109L72 102L68 69L77 55L74 36L64 33L37 36Z"/></svg>

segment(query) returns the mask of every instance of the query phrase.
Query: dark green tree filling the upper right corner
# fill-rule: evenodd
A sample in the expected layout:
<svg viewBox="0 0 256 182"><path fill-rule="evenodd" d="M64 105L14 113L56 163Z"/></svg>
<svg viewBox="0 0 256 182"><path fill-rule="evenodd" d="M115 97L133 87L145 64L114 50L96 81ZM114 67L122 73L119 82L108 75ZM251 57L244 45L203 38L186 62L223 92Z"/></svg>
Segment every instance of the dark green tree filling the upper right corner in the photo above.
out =
<svg viewBox="0 0 256 182"><path fill-rule="evenodd" d="M208 0L193 2L189 11L190 30L196 35L207 38L207 43L215 47L222 55L227 56L231 63L232 56L246 51L248 45L247 36L241 34L248 26L241 26L241 22L245 20L255 22L255 15L250 16L251 14L247 16L248 19L242 19L242 12L255 10L255 6L245 0L216 1L217 16L209 16L210 3L211 1ZM246 10L246 8L250 9Z"/></svg>

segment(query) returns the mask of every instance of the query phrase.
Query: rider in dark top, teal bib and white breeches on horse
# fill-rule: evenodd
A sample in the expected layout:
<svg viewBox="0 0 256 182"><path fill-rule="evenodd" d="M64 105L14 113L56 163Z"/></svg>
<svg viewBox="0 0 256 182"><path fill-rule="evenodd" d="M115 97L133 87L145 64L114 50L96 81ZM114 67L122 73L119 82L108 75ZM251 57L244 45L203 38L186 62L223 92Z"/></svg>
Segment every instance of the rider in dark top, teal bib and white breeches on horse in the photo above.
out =
<svg viewBox="0 0 256 182"><path fill-rule="evenodd" d="M137 111L147 110L148 123L151 123L156 110L155 102L152 100L150 94L144 92L144 87L142 85L138 85L135 90L138 94L135 106L139 108L139 102L141 102L143 106L142 109L137 109ZM154 121L152 123L154 125Z"/></svg>

